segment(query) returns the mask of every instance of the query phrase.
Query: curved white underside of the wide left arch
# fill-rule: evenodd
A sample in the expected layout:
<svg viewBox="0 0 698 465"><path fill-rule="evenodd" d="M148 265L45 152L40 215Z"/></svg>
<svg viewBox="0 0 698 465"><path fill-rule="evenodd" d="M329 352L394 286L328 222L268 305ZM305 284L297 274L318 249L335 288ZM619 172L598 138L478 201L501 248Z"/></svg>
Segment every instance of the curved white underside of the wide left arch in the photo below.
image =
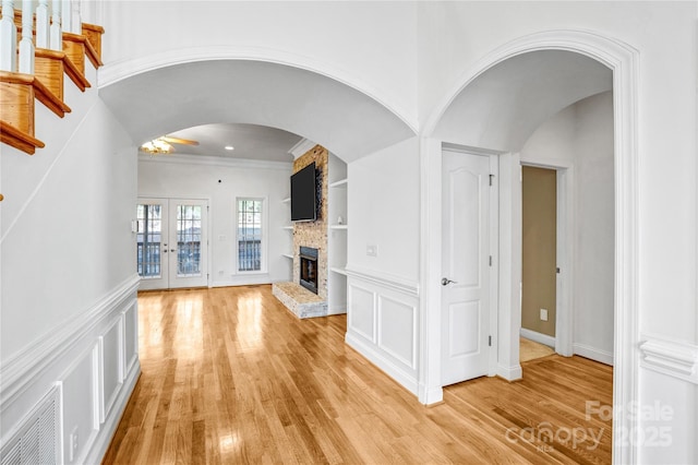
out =
<svg viewBox="0 0 698 465"><path fill-rule="evenodd" d="M100 87L99 95L139 145L165 134L184 136L191 133L183 130L202 124L245 123L298 134L351 162L414 135L399 117L347 84L262 61L160 68ZM216 135L208 143L244 147Z"/></svg>

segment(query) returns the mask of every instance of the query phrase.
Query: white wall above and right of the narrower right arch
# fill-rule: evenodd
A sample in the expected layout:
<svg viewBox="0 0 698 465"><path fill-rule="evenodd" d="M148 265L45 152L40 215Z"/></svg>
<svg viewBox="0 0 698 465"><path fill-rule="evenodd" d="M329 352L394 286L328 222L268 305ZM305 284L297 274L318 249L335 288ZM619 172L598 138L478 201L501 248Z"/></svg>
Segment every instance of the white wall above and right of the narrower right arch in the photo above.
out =
<svg viewBox="0 0 698 465"><path fill-rule="evenodd" d="M454 96L485 53L517 37L582 29L639 50L641 326L694 342L696 99L688 96L696 87L697 9L695 1L419 3L422 122L437 118L440 103ZM671 243L666 231L673 231Z"/></svg>

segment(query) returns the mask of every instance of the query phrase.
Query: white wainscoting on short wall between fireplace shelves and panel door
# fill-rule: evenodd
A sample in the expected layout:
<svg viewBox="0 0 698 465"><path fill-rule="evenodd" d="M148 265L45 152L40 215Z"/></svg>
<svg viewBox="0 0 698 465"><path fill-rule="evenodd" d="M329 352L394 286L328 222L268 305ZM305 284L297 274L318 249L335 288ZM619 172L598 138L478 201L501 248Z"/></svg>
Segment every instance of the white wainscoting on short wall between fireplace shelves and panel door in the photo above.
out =
<svg viewBox="0 0 698 465"><path fill-rule="evenodd" d="M347 274L347 344L417 395L417 284L356 270Z"/></svg>

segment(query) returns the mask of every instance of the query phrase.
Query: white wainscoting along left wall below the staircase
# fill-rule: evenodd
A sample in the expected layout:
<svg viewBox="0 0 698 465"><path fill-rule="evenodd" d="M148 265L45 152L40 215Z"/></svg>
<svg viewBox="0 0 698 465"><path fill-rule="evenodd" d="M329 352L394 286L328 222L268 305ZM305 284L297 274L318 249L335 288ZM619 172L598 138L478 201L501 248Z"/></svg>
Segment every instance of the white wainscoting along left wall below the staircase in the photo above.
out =
<svg viewBox="0 0 698 465"><path fill-rule="evenodd" d="M101 462L141 373L139 282L137 275L129 277L94 306L76 309L74 318L2 362L0 449L4 451L19 432L31 427L32 414L58 389L59 424L41 429L37 440L60 444L58 463Z"/></svg>

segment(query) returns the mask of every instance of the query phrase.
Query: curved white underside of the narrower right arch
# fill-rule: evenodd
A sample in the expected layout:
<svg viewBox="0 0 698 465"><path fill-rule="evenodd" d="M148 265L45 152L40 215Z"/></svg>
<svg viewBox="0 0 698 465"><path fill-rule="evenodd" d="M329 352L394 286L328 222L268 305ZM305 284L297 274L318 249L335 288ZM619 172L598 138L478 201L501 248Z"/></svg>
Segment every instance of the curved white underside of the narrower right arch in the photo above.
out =
<svg viewBox="0 0 698 465"><path fill-rule="evenodd" d="M583 55L522 53L470 82L445 111L435 134L457 144L516 152L562 109L612 88L611 69Z"/></svg>

